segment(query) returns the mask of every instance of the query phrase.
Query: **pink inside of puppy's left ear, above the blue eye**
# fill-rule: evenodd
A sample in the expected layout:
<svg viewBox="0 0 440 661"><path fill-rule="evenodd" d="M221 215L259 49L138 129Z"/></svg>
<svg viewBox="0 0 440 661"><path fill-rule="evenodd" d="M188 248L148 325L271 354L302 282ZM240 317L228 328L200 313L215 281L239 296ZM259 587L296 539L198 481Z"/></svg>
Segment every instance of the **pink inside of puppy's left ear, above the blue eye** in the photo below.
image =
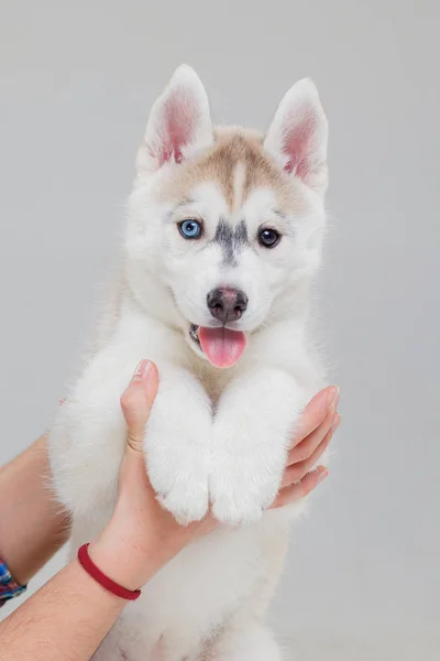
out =
<svg viewBox="0 0 440 661"><path fill-rule="evenodd" d="M161 118L160 166L173 159L182 163L182 150L196 132L198 115L196 100L184 88L177 88L166 99Z"/></svg>

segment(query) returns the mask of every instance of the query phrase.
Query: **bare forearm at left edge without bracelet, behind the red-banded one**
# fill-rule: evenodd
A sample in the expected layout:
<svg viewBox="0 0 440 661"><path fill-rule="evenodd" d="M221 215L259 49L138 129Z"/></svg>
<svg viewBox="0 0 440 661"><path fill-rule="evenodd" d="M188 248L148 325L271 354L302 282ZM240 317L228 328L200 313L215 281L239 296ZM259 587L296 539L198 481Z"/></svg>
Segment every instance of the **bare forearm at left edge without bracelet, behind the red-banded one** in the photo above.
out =
<svg viewBox="0 0 440 661"><path fill-rule="evenodd" d="M25 584L64 544L69 520L50 490L45 436L0 468L0 552Z"/></svg>

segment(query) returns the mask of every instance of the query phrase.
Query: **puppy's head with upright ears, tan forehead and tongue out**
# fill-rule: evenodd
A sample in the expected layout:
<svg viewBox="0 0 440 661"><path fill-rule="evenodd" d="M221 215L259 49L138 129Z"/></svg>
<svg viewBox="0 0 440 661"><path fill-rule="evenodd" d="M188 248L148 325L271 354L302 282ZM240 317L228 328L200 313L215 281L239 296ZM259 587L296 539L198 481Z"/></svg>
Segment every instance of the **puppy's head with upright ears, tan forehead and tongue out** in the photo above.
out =
<svg viewBox="0 0 440 661"><path fill-rule="evenodd" d="M188 66L151 110L129 204L130 284L217 367L237 362L258 327L289 318L319 264L327 133L308 79L264 137L215 129Z"/></svg>

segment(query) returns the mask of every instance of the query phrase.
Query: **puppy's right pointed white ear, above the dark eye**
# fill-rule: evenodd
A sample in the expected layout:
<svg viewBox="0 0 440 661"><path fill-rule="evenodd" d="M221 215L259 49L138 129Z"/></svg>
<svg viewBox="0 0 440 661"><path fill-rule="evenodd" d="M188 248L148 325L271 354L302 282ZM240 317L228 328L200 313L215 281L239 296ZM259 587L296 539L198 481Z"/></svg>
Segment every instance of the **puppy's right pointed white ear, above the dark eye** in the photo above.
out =
<svg viewBox="0 0 440 661"><path fill-rule="evenodd" d="M318 90L298 80L279 104L264 142L284 170L320 194L327 188L328 122Z"/></svg>

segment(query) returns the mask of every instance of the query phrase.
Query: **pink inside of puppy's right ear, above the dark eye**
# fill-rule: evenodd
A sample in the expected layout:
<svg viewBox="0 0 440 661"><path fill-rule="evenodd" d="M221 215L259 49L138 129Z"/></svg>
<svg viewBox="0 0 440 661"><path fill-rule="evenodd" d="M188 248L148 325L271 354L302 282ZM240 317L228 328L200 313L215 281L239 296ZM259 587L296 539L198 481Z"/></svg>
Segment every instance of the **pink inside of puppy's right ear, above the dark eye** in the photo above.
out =
<svg viewBox="0 0 440 661"><path fill-rule="evenodd" d="M287 121L290 127L283 137L283 153L288 156L285 171L294 172L296 176L306 180L314 162L314 139L317 131L317 120L314 115L295 123L295 118Z"/></svg>

